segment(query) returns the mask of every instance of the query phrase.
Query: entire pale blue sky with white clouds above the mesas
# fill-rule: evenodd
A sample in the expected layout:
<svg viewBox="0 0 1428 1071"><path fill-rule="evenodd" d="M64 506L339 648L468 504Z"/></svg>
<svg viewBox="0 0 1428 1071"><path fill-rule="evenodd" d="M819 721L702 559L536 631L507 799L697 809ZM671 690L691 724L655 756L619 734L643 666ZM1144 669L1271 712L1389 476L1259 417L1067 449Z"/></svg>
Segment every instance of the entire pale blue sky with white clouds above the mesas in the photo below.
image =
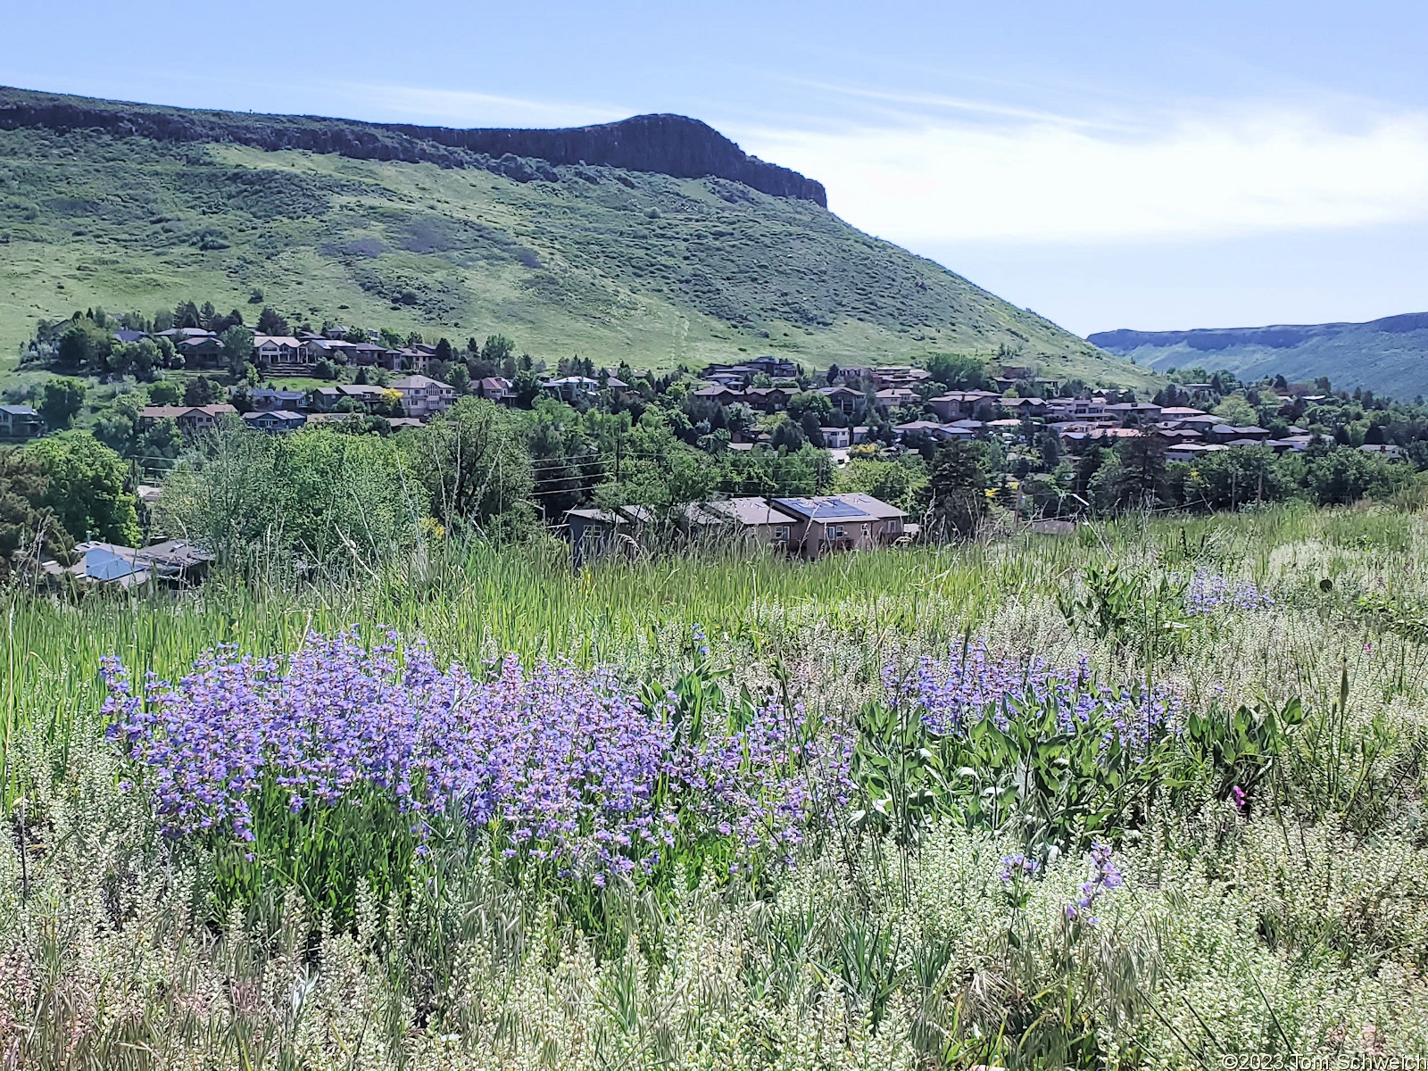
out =
<svg viewBox="0 0 1428 1071"><path fill-rule="evenodd" d="M1428 4L0 0L0 81L450 126L703 119L1078 333L1428 310Z"/></svg>

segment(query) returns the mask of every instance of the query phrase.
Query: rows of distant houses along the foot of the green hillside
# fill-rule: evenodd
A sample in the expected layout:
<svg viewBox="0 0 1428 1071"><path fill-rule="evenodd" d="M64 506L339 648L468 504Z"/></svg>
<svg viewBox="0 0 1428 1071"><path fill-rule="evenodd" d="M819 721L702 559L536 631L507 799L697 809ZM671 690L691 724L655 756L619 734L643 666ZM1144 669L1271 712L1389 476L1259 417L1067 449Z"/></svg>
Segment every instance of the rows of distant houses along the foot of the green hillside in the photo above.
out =
<svg viewBox="0 0 1428 1071"><path fill-rule="evenodd" d="M187 317L184 326L163 330L111 330L119 346L169 347L166 351L176 354L186 373L213 373L214 383L227 374L231 384L227 397L210 393L197 398L200 404L144 406L141 427L173 420L191 437L226 417L241 417L256 431L283 434L356 414L398 428L426 423L467 394L526 408L547 397L580 411L640 407L665 394L665 400L678 400L695 431L707 426L714 446L743 451L777 447L787 443L787 437L775 441L777 427L787 421L813 446L834 451L840 463L864 444L891 454L957 440L1032 448L1050 436L1058 453L1080 454L1091 446L1150 436L1164 444L1168 460L1192 461L1248 444L1302 453L1314 438L1308 421L1291 418L1271 428L1210 411L1220 397L1214 381L1181 383L1171 396L1141 400L1130 391L1060 383L1031 363L1002 363L977 364L970 381L948 388L958 380L938 380L924 367L860 361L811 373L774 354L711 363L693 371L681 368L658 378L627 366L598 368L588 358L561 360L547 371L544 363L533 364L526 357L524 370L517 370L510 343L488 358L473 350L474 338L458 353L444 338L428 344L417 334L401 340L390 331L333 324L321 331L288 330L271 310L260 317L268 331L240 331L241 337L234 337L233 324L241 323L234 320L237 316L216 314L207 327L193 326ZM240 377L230 347L247 346L247 340L251 353ZM284 378L308 383L284 386ZM313 380L320 386L308 386ZM1302 410L1314 397L1299 391L1288 400ZM1192 400L1202 400L1202 407ZM40 410L27 400L0 406L0 438L23 440L46 430ZM1401 448L1379 448L1394 444L1364 446L1389 460L1404 457Z"/></svg>

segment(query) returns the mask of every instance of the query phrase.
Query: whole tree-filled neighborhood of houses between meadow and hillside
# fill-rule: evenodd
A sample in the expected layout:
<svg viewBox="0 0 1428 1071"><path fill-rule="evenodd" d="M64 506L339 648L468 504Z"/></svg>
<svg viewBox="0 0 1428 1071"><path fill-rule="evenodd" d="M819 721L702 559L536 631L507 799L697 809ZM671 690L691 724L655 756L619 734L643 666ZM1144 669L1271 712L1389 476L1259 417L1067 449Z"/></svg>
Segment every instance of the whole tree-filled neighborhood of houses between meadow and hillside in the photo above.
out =
<svg viewBox="0 0 1428 1071"><path fill-rule="evenodd" d="M1028 360L968 354L930 354L927 367L860 358L807 368L760 354L637 370L575 354L547 363L504 336L430 346L417 333L288 330L268 308L260 333L237 311L204 317L207 328L186 307L153 320L96 310L37 328L24 350L29 386L6 393L0 440L31 466L21 471L34 508L53 506L30 473L67 471L74 454L140 521L99 531L76 518L69 534L89 564L74 568L61 550L53 557L64 575L183 583L183 570L106 545L188 538L204 526L203 553L231 557L214 536L233 530L214 513L218 500L170 494L180 473L178 487L210 478L206 466L227 441L211 433L228 430L257 437L246 440L251 457L283 458L273 471L294 458L397 466L371 491L420 503L383 503L363 526L411 516L430 517L431 531L554 534L575 564L711 541L817 560L965 538L988 524L1062 531L1137 506L1349 501L1371 481L1398 486L1425 467L1428 446L1414 410L1322 380L1245 384L1197 367L1141 397L1061 381ZM171 320L184 326L140 330ZM440 433L427 430L434 420ZM288 451L284 436L301 448ZM344 437L340 450L308 454L308 444L338 446L331 436ZM348 436L393 443L368 451ZM313 478L331 481L326 470ZM254 514L246 540L267 530L287 480L244 506ZM178 518L177 508L207 520ZM321 526L301 531L310 541Z"/></svg>

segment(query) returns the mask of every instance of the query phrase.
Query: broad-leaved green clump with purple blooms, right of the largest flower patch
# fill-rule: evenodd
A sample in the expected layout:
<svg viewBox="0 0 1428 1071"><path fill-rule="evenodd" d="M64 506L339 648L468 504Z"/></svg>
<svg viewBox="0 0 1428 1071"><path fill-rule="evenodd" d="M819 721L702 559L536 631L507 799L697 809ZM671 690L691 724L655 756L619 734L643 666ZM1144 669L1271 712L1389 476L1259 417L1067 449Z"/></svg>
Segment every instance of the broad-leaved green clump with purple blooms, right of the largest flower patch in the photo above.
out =
<svg viewBox="0 0 1428 1071"><path fill-rule="evenodd" d="M915 844L952 821L1008 834L1044 861L1092 840L1118 841L1147 820L1174 781L1165 697L1037 668L1017 681L1005 665L985 664L984 650L970 660L962 650L950 683L930 684L924 665L917 685L900 683L891 701L864 710L855 824ZM937 687L978 698L948 718L932 708ZM1001 687L1010 690L980 698Z"/></svg>

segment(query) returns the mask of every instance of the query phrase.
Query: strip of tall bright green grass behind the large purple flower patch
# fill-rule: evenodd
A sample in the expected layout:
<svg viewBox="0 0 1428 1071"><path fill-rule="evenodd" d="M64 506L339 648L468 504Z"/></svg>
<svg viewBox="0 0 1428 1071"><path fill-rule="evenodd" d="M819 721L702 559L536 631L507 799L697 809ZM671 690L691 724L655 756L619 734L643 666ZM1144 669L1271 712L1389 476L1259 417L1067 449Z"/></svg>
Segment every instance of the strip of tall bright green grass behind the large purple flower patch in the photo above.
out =
<svg viewBox="0 0 1428 1071"><path fill-rule="evenodd" d="M113 654L140 671L171 675L218 643L291 651L310 631L354 623L421 634L446 657L491 650L580 665L620 660L665 625L777 648L774 611L800 610L834 627L878 618L891 633L950 638L1018 593L1048 593L1081 555L1072 544L1030 537L1031 553L990 560L985 548L880 550L790 564L760 554L711 551L601 561L573 571L561 544L477 545L450 561L368 574L343 585L260 588L216 577L193 597L149 591L94 594L79 607L13 593L4 604L10 671L0 683L7 724L51 711L56 724L93 708L99 660ZM951 621L944 610L960 610ZM935 611L935 613L934 613Z"/></svg>

